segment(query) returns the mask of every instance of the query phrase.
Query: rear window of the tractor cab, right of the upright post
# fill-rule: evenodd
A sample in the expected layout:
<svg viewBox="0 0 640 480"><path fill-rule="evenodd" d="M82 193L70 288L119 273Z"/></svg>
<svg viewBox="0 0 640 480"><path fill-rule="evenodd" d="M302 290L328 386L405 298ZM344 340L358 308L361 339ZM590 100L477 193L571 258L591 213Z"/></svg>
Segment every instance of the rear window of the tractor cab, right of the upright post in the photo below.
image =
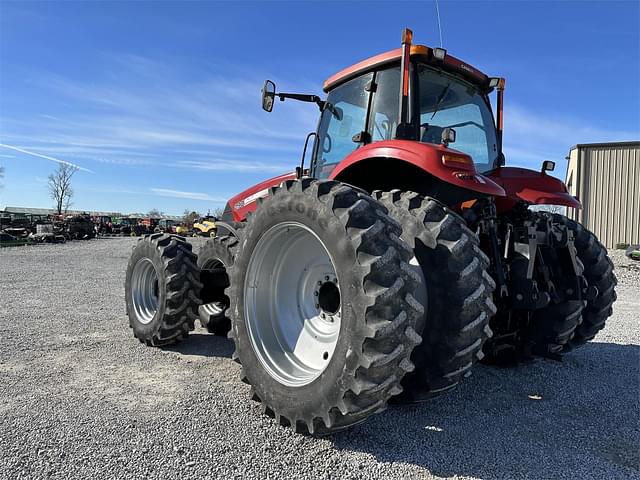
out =
<svg viewBox="0 0 640 480"><path fill-rule="evenodd" d="M476 169L495 167L498 143L493 115L485 97L473 85L446 73L418 66L420 141L442 143L442 131L456 131L451 148L471 156Z"/></svg>

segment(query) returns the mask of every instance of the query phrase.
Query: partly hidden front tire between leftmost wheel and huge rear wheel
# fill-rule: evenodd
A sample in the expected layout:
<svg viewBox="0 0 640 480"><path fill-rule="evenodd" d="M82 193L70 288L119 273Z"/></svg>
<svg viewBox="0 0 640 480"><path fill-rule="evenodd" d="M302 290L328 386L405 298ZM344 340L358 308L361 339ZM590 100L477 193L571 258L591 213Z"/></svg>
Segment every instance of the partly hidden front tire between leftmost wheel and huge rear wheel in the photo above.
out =
<svg viewBox="0 0 640 480"><path fill-rule="evenodd" d="M202 281L200 324L210 333L227 335L231 320L229 309L229 277L238 249L235 236L215 237L207 240L198 252L198 267Z"/></svg>

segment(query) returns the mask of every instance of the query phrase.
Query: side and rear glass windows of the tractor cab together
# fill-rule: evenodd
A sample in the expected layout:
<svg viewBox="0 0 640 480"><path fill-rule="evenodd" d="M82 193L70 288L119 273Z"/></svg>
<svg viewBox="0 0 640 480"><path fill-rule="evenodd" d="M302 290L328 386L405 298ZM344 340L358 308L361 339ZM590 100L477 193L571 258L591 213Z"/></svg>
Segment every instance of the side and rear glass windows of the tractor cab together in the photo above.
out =
<svg viewBox="0 0 640 480"><path fill-rule="evenodd" d="M417 139L439 145L442 131L453 128L456 141L451 148L470 155L481 173L495 168L496 129L484 94L458 77L425 65L414 64L414 68L417 82L411 83L409 95L412 124L420 125ZM368 88L373 83L376 88ZM320 117L313 176L327 178L361 145L396 138L400 85L400 67L393 66L357 77L329 93L331 108L325 108Z"/></svg>

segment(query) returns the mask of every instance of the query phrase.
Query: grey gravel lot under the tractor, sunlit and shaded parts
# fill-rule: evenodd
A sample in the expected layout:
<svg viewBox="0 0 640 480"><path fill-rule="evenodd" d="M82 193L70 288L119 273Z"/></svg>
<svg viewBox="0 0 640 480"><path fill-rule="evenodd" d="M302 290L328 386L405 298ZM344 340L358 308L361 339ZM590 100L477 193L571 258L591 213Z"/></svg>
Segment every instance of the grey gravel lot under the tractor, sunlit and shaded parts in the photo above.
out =
<svg viewBox="0 0 640 480"><path fill-rule="evenodd" d="M133 244L0 250L0 478L640 478L640 270L618 252L614 317L563 363L480 366L316 439L260 414L227 339L133 338Z"/></svg>

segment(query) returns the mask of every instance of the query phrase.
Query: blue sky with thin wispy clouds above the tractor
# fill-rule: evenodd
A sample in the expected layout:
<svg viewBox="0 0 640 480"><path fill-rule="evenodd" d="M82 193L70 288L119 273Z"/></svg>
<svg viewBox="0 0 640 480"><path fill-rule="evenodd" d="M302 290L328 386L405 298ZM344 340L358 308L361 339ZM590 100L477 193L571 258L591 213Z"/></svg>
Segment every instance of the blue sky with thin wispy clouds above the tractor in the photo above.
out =
<svg viewBox="0 0 640 480"><path fill-rule="evenodd" d="M507 163L552 159L562 175L576 143L640 138L639 2L441 0L440 13L451 54L507 78ZM321 93L405 26L437 46L434 1L2 1L0 208L50 207L57 160L82 167L73 208L221 207L291 170L315 129L311 104L260 109L265 78Z"/></svg>

